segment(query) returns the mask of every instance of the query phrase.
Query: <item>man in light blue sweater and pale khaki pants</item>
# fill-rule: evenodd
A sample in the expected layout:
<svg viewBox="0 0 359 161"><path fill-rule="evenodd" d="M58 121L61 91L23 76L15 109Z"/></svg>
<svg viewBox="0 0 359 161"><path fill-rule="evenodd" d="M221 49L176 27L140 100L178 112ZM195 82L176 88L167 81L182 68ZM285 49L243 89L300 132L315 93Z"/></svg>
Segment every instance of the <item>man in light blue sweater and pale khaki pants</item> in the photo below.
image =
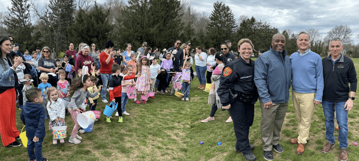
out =
<svg viewBox="0 0 359 161"><path fill-rule="evenodd" d="M292 63L292 97L295 117L298 122L298 138L289 142L298 144L298 155L304 152L315 106L322 102L323 65L321 57L309 49L309 35L301 32L297 38L298 52L290 55Z"/></svg>

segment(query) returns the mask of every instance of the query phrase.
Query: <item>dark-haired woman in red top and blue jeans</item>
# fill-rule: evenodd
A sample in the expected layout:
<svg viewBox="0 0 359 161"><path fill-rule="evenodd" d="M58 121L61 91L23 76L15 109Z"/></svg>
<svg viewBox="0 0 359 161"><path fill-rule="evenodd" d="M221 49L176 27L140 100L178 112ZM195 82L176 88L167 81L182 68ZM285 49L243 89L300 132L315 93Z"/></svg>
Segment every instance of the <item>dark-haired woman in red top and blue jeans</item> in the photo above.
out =
<svg viewBox="0 0 359 161"><path fill-rule="evenodd" d="M116 51L113 50L113 47L115 45L111 42L111 40L108 40L106 42L106 49L100 54L100 73L101 73L101 79L103 88L101 89L101 99L103 103L108 103L106 100L106 94L107 94L107 84L111 80L112 77L112 64L113 59L112 56L116 54ZM113 51L112 51L113 50Z"/></svg>

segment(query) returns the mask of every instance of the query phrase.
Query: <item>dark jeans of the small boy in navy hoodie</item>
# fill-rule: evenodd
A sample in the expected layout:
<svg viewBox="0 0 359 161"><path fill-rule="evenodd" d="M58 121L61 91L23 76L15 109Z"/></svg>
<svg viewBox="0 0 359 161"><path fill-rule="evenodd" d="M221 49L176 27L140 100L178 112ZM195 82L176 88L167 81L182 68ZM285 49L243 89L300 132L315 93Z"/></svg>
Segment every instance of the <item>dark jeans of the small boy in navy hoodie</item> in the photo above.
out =
<svg viewBox="0 0 359 161"><path fill-rule="evenodd" d="M29 154L29 159L42 161L42 142L44 138L39 138L38 142L33 142L33 139L34 138L27 138L27 153Z"/></svg>

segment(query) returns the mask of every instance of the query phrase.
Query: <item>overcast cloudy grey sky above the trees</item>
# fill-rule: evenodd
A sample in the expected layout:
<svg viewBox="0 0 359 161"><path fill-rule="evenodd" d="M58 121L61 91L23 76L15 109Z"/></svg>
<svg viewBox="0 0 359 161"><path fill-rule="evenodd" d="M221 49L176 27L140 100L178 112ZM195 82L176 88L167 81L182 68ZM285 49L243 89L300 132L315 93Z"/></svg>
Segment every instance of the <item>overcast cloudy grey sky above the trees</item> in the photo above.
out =
<svg viewBox="0 0 359 161"><path fill-rule="evenodd" d="M39 6L46 0L36 0ZM104 3L106 0L97 0ZM216 0L192 0L191 7L197 11L211 14ZM0 0L0 11L7 11L10 0ZM306 29L319 29L323 37L336 25L349 25L353 31L354 43L359 43L359 1L358 0L223 0L236 19L241 15L270 23L280 31L291 29L294 32ZM126 2L127 3L127 2Z"/></svg>

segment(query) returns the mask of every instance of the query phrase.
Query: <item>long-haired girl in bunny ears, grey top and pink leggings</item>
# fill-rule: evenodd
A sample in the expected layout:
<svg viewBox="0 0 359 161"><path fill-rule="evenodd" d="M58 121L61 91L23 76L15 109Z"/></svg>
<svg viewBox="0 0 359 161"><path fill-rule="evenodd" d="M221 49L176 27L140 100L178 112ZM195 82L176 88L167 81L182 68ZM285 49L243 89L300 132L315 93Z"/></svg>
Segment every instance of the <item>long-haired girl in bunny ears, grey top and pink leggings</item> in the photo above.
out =
<svg viewBox="0 0 359 161"><path fill-rule="evenodd" d="M99 86L97 91L91 94L89 91L87 91L87 88L91 87L91 84L92 83L90 80L90 76L85 74L80 78L73 79L73 83L69 86L70 95L73 96L71 97L71 102L69 104L68 110L75 122L74 129L69 139L70 143L78 144L81 142L80 140L82 139L82 137L77 135L80 126L75 118L80 113L79 108L83 109L83 112L86 112L86 96L94 98L98 95L98 92L101 91L102 86Z"/></svg>

